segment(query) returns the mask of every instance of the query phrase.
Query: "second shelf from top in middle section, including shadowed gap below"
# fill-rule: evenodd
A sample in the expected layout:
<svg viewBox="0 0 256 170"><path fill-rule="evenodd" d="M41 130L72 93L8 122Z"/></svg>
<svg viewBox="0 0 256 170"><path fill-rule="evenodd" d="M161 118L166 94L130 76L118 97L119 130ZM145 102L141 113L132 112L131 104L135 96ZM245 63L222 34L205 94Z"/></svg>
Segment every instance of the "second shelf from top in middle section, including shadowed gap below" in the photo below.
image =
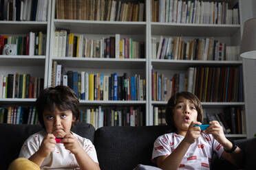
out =
<svg viewBox="0 0 256 170"><path fill-rule="evenodd" d="M109 69L142 69L146 66L146 59L111 59L111 58L58 58L54 57L59 64L66 67L76 65L77 68L109 68Z"/></svg>

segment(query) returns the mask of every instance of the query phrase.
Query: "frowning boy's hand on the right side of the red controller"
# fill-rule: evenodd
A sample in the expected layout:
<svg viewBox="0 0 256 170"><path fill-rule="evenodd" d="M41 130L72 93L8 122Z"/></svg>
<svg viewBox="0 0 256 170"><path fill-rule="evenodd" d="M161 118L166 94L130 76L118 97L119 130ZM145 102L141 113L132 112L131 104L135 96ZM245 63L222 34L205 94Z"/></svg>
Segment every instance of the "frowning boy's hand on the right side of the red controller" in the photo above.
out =
<svg viewBox="0 0 256 170"><path fill-rule="evenodd" d="M77 138L75 138L72 134L66 134L63 140L61 140L61 143L63 143L65 149L70 150L72 154L77 154L82 149Z"/></svg>

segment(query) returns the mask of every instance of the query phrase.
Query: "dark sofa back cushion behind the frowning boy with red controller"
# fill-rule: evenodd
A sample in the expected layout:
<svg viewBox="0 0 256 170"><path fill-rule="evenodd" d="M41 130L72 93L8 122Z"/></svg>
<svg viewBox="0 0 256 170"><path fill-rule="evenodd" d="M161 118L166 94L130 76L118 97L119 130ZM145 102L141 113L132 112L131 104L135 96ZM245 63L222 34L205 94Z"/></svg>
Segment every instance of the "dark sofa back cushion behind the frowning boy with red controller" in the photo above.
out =
<svg viewBox="0 0 256 170"><path fill-rule="evenodd" d="M10 162L18 158L24 141L31 135L42 130L41 125L12 125L0 123L0 167L7 169ZM94 142L95 129L90 124L77 123L72 132Z"/></svg>

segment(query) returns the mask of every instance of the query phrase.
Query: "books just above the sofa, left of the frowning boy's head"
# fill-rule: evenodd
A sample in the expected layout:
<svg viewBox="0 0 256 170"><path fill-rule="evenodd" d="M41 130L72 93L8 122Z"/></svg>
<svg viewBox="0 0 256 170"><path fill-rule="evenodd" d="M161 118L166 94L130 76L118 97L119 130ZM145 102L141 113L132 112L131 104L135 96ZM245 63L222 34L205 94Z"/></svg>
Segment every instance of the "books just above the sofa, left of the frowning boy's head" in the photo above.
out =
<svg viewBox="0 0 256 170"><path fill-rule="evenodd" d="M38 115L34 106L8 106L0 107L0 123L12 124L39 124Z"/></svg>

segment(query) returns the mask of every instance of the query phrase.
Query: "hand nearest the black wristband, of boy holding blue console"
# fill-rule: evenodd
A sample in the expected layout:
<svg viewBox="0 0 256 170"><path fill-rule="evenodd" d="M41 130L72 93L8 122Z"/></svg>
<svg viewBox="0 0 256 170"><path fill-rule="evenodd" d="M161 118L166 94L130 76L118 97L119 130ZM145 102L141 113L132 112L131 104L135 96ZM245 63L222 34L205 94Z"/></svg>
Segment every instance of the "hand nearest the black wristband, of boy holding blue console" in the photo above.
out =
<svg viewBox="0 0 256 170"><path fill-rule="evenodd" d="M211 125L205 130L206 134L212 134L219 143L226 142L226 136L223 132L223 128L218 121L210 121Z"/></svg>

